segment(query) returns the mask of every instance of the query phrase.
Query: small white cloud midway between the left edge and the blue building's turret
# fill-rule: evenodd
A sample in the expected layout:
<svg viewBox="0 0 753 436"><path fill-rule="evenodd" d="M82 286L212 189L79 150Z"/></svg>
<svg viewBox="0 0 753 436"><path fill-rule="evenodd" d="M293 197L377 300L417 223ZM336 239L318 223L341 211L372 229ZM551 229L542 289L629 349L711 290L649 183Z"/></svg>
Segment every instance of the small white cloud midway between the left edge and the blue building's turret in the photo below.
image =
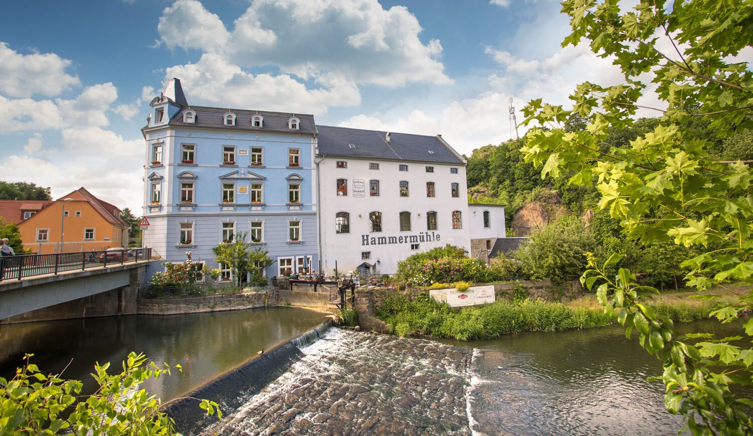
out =
<svg viewBox="0 0 753 436"><path fill-rule="evenodd" d="M107 126L106 112L117 99L117 88L111 83L87 87L72 100L57 99L60 114L68 126Z"/></svg>

